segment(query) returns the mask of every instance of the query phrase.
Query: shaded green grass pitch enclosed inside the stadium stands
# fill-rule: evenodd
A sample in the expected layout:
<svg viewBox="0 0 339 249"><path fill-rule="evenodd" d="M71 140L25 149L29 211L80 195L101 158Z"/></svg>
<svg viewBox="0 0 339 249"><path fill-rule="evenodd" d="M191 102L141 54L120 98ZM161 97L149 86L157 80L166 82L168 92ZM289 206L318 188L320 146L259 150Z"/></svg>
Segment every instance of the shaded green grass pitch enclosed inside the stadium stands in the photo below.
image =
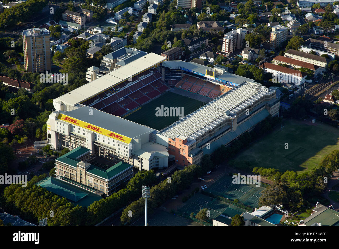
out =
<svg viewBox="0 0 339 249"><path fill-rule="evenodd" d="M201 101L190 99L179 94L174 94L173 92L166 92L159 98L143 105L137 111L123 118L138 124L149 126L156 130L161 130L177 121L178 117L156 117L155 108L161 108L162 105L164 107L183 107L184 116L186 116L204 104L205 103Z"/></svg>

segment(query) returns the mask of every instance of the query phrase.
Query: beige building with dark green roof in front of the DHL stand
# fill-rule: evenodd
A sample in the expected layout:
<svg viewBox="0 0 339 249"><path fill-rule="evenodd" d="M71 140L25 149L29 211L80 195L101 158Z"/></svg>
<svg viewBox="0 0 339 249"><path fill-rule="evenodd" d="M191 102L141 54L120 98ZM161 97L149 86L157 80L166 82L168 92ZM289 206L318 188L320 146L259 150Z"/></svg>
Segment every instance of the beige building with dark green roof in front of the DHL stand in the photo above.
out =
<svg viewBox="0 0 339 249"><path fill-rule="evenodd" d="M79 146L55 160L55 176L77 187L110 195L121 189L134 175L130 164L119 162L113 165L100 160L105 166L99 163L102 166L98 167L91 164L90 159L91 150ZM97 161L95 163L98 165Z"/></svg>

